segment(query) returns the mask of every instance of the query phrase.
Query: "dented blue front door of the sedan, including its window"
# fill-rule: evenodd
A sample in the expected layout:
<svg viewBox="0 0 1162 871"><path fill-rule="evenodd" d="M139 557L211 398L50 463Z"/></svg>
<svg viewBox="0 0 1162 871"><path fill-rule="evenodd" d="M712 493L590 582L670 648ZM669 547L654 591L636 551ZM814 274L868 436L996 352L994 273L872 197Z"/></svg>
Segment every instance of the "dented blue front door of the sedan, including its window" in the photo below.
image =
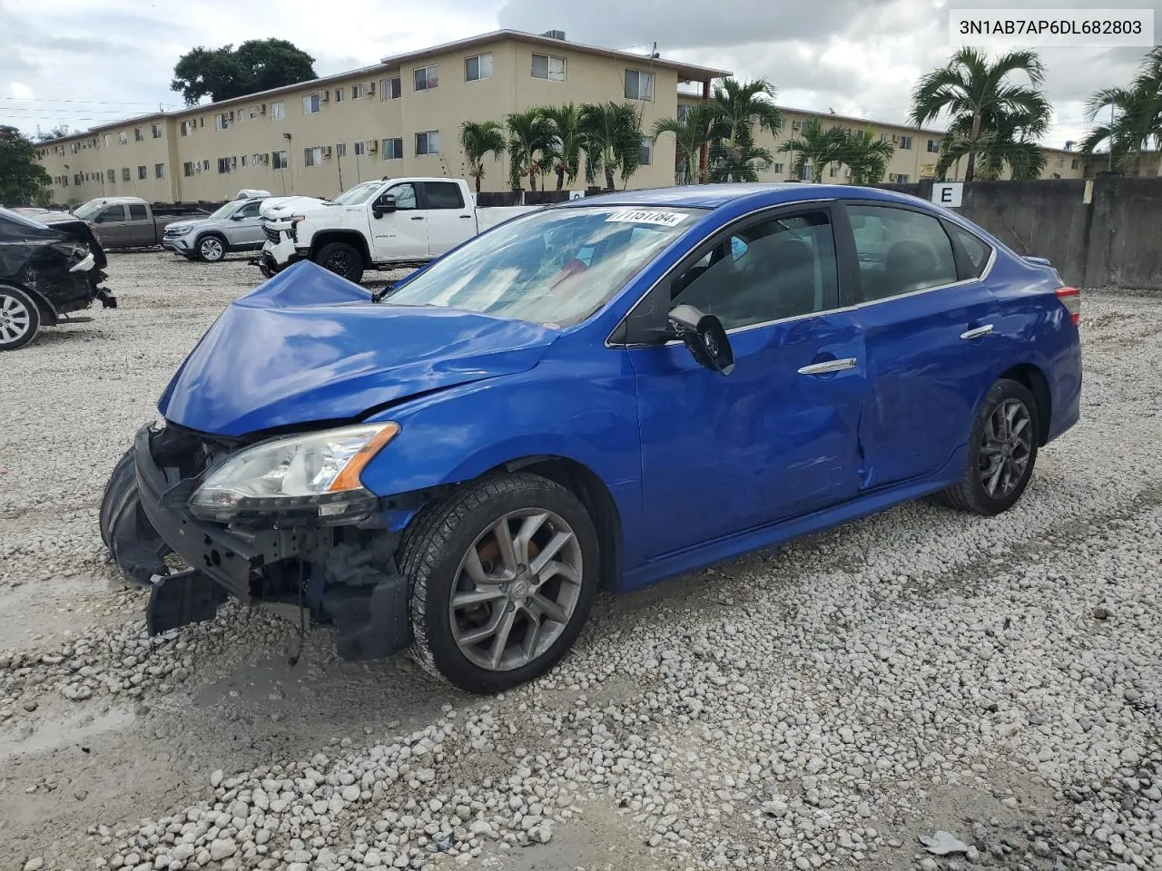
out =
<svg viewBox="0 0 1162 871"><path fill-rule="evenodd" d="M679 341L629 351L646 556L858 494L867 369L838 274L830 207L801 207L734 225L655 290L717 315L736 366L723 376Z"/></svg>

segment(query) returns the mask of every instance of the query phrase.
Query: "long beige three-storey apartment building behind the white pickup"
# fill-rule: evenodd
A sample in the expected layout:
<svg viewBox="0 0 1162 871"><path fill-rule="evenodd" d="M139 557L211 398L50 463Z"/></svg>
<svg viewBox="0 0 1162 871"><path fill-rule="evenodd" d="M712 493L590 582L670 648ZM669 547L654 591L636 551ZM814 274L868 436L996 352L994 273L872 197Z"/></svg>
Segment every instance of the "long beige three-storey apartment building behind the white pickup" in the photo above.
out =
<svg viewBox="0 0 1162 871"><path fill-rule="evenodd" d="M679 88L709 93L725 70L501 30L260 94L145 115L41 145L57 202L134 195L218 201L241 188L333 196L385 175L467 178L465 121L535 106L633 100L641 129L677 114ZM643 137L634 187L674 183L673 138ZM505 156L486 190L509 188ZM555 179L551 183L555 183ZM583 180L576 187L583 187ZM525 187L528 185L525 183Z"/></svg>

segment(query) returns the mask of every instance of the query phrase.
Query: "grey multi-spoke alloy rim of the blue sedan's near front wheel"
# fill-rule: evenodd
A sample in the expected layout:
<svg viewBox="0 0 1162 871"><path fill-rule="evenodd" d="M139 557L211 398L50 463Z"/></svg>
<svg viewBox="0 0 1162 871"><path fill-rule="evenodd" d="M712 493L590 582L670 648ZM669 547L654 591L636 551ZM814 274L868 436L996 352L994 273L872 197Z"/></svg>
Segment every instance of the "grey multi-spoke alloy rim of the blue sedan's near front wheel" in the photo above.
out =
<svg viewBox="0 0 1162 871"><path fill-rule="evenodd" d="M449 602L460 653L490 671L511 671L544 655L581 597L581 545L558 514L511 511L468 548Z"/></svg>

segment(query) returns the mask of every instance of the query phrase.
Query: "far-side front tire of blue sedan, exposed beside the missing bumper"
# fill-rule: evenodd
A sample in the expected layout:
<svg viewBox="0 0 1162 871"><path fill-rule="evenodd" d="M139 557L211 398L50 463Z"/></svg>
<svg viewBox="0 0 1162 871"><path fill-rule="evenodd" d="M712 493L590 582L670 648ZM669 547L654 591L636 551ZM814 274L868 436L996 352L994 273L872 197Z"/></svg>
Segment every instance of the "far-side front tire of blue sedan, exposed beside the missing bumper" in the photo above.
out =
<svg viewBox="0 0 1162 871"><path fill-rule="evenodd" d="M165 556L172 552L142 510L137 472L134 468L134 448L129 448L113 467L101 498L98 523L101 527L101 541L109 549L114 562L125 573L129 583L149 586L153 575L170 573Z"/></svg>

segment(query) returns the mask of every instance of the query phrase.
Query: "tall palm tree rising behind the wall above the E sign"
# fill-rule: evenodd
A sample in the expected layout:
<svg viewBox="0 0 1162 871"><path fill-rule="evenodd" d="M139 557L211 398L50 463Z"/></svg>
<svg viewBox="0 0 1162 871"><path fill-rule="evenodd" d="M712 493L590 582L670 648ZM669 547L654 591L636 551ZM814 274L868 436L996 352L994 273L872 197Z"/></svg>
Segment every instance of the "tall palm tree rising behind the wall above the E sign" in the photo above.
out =
<svg viewBox="0 0 1162 871"><path fill-rule="evenodd" d="M1028 84L1010 82L1011 73L1023 73ZM912 91L911 121L923 127L941 113L952 115L956 132L949 132L946 143L960 137L963 145L952 149L949 143L949 149L968 158L964 181L971 181L977 151L989 143L995 149L998 142L999 131L990 127L990 118L1018 118L1027 130L1047 124L1052 108L1041 91L1043 81L1045 66L1035 51L1010 51L990 62L976 49L957 49L947 66L920 78Z"/></svg>

